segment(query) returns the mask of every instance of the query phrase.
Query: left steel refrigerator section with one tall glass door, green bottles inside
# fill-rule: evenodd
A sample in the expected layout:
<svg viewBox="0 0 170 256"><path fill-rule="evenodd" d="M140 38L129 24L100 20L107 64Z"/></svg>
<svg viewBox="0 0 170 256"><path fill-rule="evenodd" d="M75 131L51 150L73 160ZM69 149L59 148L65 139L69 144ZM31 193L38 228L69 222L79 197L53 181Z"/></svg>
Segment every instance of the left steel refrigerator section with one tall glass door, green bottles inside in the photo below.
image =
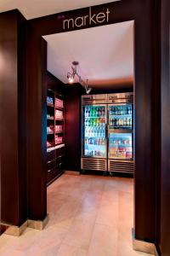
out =
<svg viewBox="0 0 170 256"><path fill-rule="evenodd" d="M82 96L82 170L107 171L107 95Z"/></svg>

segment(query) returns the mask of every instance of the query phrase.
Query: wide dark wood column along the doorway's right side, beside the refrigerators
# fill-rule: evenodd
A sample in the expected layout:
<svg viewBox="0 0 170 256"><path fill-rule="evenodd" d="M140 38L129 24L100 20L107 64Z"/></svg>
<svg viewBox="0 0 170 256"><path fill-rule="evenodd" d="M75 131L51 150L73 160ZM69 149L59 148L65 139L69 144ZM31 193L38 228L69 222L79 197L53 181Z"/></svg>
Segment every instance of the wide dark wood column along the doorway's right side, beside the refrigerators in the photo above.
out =
<svg viewBox="0 0 170 256"><path fill-rule="evenodd" d="M160 172L160 38L157 31L156 1L139 2L136 2L139 14L134 25L134 227L136 239L155 242L156 173Z"/></svg>

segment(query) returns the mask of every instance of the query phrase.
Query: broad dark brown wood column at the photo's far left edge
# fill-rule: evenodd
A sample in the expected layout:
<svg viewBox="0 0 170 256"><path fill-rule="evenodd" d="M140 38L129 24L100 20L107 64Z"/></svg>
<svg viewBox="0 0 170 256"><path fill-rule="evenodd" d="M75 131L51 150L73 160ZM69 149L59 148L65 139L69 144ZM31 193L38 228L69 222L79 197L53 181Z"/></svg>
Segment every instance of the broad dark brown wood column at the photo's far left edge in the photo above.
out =
<svg viewBox="0 0 170 256"><path fill-rule="evenodd" d="M1 220L20 226L26 201L26 20L0 14Z"/></svg>

